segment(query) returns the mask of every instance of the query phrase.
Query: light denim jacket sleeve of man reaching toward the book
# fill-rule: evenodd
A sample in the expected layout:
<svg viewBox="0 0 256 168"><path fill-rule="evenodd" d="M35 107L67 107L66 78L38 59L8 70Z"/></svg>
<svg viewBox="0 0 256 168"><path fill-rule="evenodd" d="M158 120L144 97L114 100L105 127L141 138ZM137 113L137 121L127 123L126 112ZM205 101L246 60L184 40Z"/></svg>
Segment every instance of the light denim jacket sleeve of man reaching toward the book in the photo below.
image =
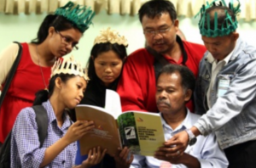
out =
<svg viewBox="0 0 256 168"><path fill-rule="evenodd" d="M256 96L256 60L251 59L247 64L241 64L234 72L229 90L219 97L212 109L195 123L195 127L202 135L218 130L231 119L240 115ZM193 131L193 130L192 130ZM196 131L194 129L194 131Z"/></svg>

